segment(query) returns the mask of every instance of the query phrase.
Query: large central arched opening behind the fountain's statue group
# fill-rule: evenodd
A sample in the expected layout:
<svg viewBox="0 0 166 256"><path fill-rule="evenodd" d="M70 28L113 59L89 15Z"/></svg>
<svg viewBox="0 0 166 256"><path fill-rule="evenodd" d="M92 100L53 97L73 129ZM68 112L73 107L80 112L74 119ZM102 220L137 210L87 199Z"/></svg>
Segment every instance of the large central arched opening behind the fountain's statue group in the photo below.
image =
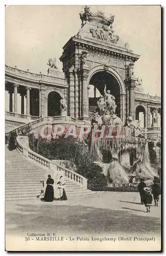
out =
<svg viewBox="0 0 166 256"><path fill-rule="evenodd" d="M97 100L100 94L104 95L104 87L106 86L106 91L109 90L110 94L115 97L116 114L121 118L121 88L118 80L106 71L99 71L91 77L89 84L89 114L94 113L97 108Z"/></svg>

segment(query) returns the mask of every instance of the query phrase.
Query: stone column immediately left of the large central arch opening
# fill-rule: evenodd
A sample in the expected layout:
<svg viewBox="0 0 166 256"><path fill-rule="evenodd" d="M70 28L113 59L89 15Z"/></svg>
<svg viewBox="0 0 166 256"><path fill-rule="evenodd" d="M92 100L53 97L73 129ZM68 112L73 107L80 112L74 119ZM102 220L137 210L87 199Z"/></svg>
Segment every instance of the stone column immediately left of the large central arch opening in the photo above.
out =
<svg viewBox="0 0 166 256"><path fill-rule="evenodd" d="M88 74L82 74L82 119L89 120Z"/></svg>

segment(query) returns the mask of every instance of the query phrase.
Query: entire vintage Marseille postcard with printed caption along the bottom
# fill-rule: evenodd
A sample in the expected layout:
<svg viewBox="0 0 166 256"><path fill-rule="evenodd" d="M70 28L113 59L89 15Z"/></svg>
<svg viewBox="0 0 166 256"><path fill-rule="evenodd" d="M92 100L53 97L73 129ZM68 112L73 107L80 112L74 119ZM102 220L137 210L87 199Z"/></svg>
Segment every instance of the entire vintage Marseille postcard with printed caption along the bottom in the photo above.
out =
<svg viewBox="0 0 166 256"><path fill-rule="evenodd" d="M7 251L161 250L161 7L6 6Z"/></svg>

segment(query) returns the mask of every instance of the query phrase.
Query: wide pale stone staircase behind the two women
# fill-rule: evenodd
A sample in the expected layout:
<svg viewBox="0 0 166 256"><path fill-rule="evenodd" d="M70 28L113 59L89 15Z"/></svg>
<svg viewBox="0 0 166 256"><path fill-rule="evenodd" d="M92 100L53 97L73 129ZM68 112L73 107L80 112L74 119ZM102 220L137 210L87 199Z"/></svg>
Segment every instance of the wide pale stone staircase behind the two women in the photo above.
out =
<svg viewBox="0 0 166 256"><path fill-rule="evenodd" d="M46 169L33 163L17 149L9 151L5 146L5 194L6 200L36 199L43 189ZM80 187L69 178L66 181L67 197L87 196L95 192Z"/></svg>

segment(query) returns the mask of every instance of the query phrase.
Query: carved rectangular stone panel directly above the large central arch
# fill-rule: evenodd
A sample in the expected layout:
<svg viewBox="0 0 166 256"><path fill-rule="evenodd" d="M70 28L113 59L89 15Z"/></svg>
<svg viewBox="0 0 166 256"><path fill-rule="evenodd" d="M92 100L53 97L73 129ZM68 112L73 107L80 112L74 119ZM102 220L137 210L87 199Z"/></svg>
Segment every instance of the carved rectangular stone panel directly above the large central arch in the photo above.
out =
<svg viewBox="0 0 166 256"><path fill-rule="evenodd" d="M123 59L116 59L114 57L97 54L97 53L89 53L87 56L87 60L95 61L103 64L103 66L124 66Z"/></svg>

